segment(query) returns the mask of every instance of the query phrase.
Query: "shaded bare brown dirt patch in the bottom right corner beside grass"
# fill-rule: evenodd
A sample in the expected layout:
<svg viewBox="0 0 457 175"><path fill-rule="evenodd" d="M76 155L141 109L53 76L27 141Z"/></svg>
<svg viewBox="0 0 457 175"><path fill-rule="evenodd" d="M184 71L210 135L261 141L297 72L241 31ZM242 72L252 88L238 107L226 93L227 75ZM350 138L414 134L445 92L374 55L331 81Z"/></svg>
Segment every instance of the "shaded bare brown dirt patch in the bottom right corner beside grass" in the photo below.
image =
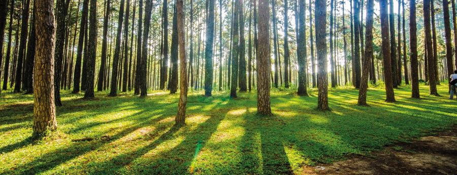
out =
<svg viewBox="0 0 457 175"><path fill-rule="evenodd" d="M436 136L388 146L368 156L307 167L303 174L457 174L457 125Z"/></svg>

